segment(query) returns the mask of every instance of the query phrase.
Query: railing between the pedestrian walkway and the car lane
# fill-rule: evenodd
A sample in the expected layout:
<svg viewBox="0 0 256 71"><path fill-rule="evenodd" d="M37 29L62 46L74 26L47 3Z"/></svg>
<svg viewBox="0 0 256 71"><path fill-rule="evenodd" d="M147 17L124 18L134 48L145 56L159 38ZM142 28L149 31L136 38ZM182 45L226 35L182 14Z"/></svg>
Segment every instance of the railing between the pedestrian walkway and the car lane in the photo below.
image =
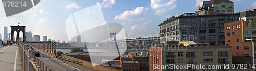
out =
<svg viewBox="0 0 256 71"><path fill-rule="evenodd" d="M20 61L22 62L22 69L24 71L47 71L47 66L33 54L32 46L26 47L24 42L18 42Z"/></svg>

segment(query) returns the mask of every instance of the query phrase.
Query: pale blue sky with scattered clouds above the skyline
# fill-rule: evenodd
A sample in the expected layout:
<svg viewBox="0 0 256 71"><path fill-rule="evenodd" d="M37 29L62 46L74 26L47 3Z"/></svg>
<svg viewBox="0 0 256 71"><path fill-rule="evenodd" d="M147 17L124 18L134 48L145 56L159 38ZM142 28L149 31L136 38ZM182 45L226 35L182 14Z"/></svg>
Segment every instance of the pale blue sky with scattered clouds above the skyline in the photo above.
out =
<svg viewBox="0 0 256 71"><path fill-rule="evenodd" d="M79 10L100 5L104 22L120 23L127 38L137 38L157 33L158 25L168 17L197 11L202 1L209 0L41 0L33 8L9 17L0 3L0 33L3 39L4 27L8 27L10 33L10 26L17 26L19 22L20 26L26 26L26 32L40 35L40 40L47 36L48 39L67 42L69 29L66 28L66 19ZM235 13L256 8L255 0L230 1L234 3Z"/></svg>

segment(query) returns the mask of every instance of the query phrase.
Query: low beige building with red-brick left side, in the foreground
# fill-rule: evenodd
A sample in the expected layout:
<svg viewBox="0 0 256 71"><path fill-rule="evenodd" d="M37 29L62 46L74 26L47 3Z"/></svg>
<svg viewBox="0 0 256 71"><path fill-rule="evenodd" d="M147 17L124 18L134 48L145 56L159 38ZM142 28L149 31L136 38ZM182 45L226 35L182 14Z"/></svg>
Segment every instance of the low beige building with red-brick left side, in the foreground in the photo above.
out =
<svg viewBox="0 0 256 71"><path fill-rule="evenodd" d="M178 49L172 48L161 48L152 47L150 48L150 70L228 70L224 69L224 64L231 65L232 51L231 46L195 46L187 47L186 50L178 51ZM177 47L176 47L177 48ZM178 47L179 48L179 47ZM182 49L182 48L179 48ZM183 48L184 49L184 48ZM154 64L163 65L165 69L155 69ZM221 69L170 69L169 64L183 65L183 64L194 64L194 65L220 65ZM231 66L229 66L231 68Z"/></svg>

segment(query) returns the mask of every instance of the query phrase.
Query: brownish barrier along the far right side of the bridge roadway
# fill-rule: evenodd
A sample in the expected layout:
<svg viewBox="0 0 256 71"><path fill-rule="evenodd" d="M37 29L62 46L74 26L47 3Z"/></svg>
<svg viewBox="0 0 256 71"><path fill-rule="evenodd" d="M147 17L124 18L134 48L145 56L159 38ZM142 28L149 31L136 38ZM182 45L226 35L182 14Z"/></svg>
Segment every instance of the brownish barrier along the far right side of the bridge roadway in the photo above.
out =
<svg viewBox="0 0 256 71"><path fill-rule="evenodd" d="M46 42L26 42L29 45L33 45L34 49L46 53L51 57L55 57L61 60L73 62L79 65L86 66L88 68L94 69L94 70L105 70L105 71L120 71L119 69L111 68L111 67L106 67L103 65L97 65L97 66L92 66L92 62L89 61L84 61L78 58L74 58L71 56L67 56L64 54L58 55L56 53L56 48L55 48L55 43L46 43Z"/></svg>

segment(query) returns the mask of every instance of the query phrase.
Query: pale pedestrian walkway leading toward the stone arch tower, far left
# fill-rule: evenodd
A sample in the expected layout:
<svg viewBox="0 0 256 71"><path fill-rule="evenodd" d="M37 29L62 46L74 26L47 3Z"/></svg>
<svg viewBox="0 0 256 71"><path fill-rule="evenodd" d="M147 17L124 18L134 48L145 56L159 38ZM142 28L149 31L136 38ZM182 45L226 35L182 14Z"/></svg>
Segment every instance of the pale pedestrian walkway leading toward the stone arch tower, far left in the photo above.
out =
<svg viewBox="0 0 256 71"><path fill-rule="evenodd" d="M0 49L0 69L4 71L20 70L19 53L17 44L3 46Z"/></svg>

